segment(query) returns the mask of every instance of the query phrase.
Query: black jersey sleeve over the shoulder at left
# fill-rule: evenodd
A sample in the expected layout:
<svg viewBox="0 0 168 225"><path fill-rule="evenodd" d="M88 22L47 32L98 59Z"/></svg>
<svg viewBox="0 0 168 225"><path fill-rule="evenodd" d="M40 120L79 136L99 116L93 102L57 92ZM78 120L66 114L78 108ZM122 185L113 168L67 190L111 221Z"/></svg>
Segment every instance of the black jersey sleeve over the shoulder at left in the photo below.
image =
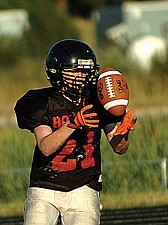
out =
<svg viewBox="0 0 168 225"><path fill-rule="evenodd" d="M35 90L30 90L21 97L14 107L18 127L33 132L34 128L39 125L49 125L47 102L47 96L41 95Z"/></svg>

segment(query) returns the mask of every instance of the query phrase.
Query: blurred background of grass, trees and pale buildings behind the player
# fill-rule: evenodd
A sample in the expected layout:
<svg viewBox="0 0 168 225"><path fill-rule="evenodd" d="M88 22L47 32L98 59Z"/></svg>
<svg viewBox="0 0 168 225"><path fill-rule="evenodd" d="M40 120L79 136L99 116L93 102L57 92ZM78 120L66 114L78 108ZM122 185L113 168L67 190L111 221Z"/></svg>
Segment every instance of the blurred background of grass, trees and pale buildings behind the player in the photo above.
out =
<svg viewBox="0 0 168 225"><path fill-rule="evenodd" d="M168 1L0 1L0 216L22 215L34 137L16 126L14 105L28 89L49 86L45 58L63 38L95 51L130 87L138 122L127 154L102 133L105 209L167 205Z"/></svg>

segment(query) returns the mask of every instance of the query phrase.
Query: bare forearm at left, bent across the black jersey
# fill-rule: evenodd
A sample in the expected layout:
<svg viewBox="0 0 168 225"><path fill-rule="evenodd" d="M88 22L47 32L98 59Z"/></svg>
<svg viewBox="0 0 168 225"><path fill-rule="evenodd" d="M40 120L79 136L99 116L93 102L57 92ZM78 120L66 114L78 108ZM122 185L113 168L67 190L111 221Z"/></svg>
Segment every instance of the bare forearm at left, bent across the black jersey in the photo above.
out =
<svg viewBox="0 0 168 225"><path fill-rule="evenodd" d="M38 147L45 156L56 152L74 132L74 129L67 127L65 123L60 129L50 133L38 142Z"/></svg>

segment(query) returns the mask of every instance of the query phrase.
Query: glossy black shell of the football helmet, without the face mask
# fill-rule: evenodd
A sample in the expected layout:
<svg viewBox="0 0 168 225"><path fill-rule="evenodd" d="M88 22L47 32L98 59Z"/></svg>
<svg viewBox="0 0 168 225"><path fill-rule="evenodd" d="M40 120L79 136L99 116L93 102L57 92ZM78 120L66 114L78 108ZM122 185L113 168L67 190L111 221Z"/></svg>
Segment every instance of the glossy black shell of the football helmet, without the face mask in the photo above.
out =
<svg viewBox="0 0 168 225"><path fill-rule="evenodd" d="M47 79L58 90L63 87L64 69L87 71L87 83L92 83L99 71L99 65L94 51L86 43L76 39L64 39L51 47L46 58Z"/></svg>

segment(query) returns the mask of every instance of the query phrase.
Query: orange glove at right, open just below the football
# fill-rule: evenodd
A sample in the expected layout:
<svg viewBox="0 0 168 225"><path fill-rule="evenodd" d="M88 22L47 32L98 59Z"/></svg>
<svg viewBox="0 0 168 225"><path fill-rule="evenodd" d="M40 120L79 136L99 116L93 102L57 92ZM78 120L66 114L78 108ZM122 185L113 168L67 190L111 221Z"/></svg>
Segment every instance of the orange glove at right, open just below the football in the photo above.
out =
<svg viewBox="0 0 168 225"><path fill-rule="evenodd" d="M130 119L130 117L132 116L132 114L134 113L134 109L130 109L124 116L124 118L122 119L121 124L117 127L117 130L115 131L115 133L113 134L114 136L116 135L124 135L126 134L128 131L132 131L134 130L133 125L136 123L137 118L134 117L132 120Z"/></svg>

